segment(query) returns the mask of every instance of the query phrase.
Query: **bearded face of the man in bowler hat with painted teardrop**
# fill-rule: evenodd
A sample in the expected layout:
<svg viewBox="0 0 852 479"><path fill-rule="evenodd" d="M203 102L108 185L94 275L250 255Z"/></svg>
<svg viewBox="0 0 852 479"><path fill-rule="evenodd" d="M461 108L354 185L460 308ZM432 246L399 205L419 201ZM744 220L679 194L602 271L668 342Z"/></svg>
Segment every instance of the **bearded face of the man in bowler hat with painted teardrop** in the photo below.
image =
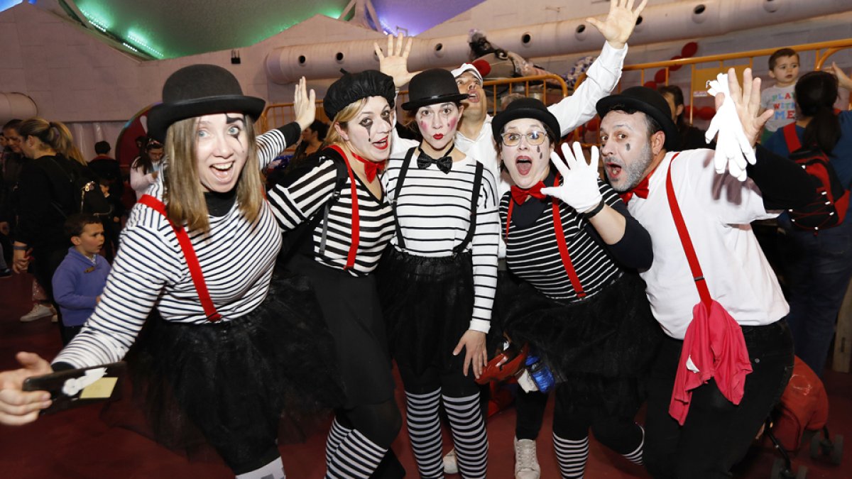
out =
<svg viewBox="0 0 852 479"><path fill-rule="evenodd" d="M653 161L644 115L613 110L601 121L603 170L619 193L639 184Z"/></svg>

